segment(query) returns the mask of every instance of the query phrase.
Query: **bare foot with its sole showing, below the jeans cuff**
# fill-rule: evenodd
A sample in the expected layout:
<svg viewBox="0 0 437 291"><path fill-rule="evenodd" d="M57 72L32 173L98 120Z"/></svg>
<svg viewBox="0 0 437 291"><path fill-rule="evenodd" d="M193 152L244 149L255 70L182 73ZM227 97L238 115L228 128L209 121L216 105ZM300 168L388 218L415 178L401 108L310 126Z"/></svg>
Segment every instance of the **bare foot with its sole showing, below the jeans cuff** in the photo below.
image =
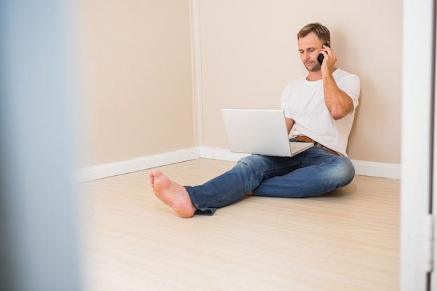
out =
<svg viewBox="0 0 437 291"><path fill-rule="evenodd" d="M149 172L149 179L156 197L172 207L179 216L189 218L194 215L196 208L191 203L188 192L186 192L184 187L171 181L158 170L151 170Z"/></svg>

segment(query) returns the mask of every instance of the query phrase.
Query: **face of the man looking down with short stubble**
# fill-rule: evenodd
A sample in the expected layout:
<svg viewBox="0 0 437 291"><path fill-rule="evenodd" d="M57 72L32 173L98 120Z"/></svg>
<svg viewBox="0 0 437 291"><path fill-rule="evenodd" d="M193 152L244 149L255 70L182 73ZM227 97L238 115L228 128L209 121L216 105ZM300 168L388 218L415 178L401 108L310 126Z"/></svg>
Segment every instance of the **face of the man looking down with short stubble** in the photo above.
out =
<svg viewBox="0 0 437 291"><path fill-rule="evenodd" d="M317 57L320 54L320 49L323 47L323 41L318 38L316 33L309 33L303 38L297 40L297 47L299 48L299 56L304 63L306 70L316 72L320 70L320 64Z"/></svg>

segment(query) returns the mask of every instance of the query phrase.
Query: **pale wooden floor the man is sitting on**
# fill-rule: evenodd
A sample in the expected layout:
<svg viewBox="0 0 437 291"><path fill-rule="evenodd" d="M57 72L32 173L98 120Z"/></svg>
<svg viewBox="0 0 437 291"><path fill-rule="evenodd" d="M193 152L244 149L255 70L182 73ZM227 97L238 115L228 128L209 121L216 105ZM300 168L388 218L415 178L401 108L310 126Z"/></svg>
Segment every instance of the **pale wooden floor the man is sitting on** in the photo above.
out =
<svg viewBox="0 0 437 291"><path fill-rule="evenodd" d="M195 185L233 165L160 169ZM184 219L147 173L82 184L85 290L399 290L399 180L356 176L327 195L247 197Z"/></svg>

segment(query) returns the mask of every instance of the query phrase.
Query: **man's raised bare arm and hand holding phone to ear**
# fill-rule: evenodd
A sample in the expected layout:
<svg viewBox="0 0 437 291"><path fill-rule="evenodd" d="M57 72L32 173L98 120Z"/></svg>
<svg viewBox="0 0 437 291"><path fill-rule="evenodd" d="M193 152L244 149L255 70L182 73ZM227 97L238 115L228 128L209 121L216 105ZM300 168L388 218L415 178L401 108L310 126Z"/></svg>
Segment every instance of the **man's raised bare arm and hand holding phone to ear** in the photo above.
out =
<svg viewBox="0 0 437 291"><path fill-rule="evenodd" d="M337 86L332 73L336 68L334 65L337 57L334 50L330 47L323 46L322 53L325 59L322 64L323 91L325 94L325 104L332 118L335 120L342 119L353 110L353 100L344 91Z"/></svg>

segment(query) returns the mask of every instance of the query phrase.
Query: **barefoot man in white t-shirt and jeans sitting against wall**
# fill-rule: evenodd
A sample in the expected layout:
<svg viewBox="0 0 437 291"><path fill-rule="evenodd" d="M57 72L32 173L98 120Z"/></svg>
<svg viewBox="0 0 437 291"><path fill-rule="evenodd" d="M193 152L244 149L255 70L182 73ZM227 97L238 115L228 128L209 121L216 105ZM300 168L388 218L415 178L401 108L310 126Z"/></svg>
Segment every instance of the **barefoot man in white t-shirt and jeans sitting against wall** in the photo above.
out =
<svg viewBox="0 0 437 291"><path fill-rule="evenodd" d="M360 96L356 75L335 68L329 30L311 23L297 33L308 75L287 85L281 97L292 140L314 147L293 157L251 155L200 186L180 186L158 170L149 172L155 195L184 218L214 214L246 194L308 197L348 185L355 175L346 147ZM318 55L323 54L322 64Z"/></svg>

